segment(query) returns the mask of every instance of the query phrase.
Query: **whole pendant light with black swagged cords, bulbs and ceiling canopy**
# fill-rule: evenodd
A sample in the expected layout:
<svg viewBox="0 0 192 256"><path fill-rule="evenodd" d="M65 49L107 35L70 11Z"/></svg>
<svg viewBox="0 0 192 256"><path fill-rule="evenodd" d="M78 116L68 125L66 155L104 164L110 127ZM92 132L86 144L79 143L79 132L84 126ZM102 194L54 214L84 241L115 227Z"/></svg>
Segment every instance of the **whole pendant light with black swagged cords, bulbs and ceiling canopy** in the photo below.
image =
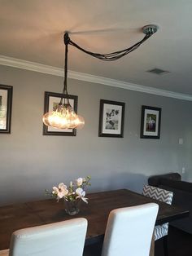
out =
<svg viewBox="0 0 192 256"><path fill-rule="evenodd" d="M45 113L42 120L46 126L52 126L58 129L77 129L82 128L85 125L84 118L77 115L72 108L68 99L68 45L75 46L80 51L85 52L88 55L93 56L99 60L113 61L118 60L124 55L129 54L131 51L136 50L142 45L148 38L150 38L159 27L155 24L146 25L142 28L142 32L145 33L145 37L134 44L133 46L126 48L122 51L115 51L108 54L99 54L91 51L86 51L85 49L78 46L75 42L69 38L68 33L64 33L64 44L65 44L65 64L64 64L64 81L63 81L63 93L55 111Z"/></svg>

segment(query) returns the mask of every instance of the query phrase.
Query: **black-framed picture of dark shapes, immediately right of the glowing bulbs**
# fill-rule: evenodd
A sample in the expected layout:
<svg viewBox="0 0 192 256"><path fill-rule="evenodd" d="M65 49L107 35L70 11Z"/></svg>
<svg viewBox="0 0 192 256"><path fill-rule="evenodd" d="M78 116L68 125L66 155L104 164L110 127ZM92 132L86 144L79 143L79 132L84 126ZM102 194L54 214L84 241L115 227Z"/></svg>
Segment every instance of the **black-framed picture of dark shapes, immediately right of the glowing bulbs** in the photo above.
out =
<svg viewBox="0 0 192 256"><path fill-rule="evenodd" d="M100 100L99 137L124 137L124 103Z"/></svg>

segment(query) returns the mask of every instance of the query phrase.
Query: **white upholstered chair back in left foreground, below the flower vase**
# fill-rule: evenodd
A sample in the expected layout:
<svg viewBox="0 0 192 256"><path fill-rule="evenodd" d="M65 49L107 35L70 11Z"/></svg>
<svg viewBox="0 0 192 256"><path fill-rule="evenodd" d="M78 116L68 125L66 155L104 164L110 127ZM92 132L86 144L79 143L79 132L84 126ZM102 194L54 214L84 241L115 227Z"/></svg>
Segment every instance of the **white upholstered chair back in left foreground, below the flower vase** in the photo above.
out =
<svg viewBox="0 0 192 256"><path fill-rule="evenodd" d="M85 218L20 229L13 232L7 255L82 256L86 230Z"/></svg>

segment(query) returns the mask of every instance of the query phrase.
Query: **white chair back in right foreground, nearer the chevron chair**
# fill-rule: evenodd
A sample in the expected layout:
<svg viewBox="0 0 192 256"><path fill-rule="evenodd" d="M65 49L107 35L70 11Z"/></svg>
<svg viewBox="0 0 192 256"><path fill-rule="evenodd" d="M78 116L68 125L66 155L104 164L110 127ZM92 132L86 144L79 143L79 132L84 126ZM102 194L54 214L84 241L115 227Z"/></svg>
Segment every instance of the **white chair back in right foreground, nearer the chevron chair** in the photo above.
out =
<svg viewBox="0 0 192 256"><path fill-rule="evenodd" d="M149 256L158 210L155 203L111 210L102 256Z"/></svg>

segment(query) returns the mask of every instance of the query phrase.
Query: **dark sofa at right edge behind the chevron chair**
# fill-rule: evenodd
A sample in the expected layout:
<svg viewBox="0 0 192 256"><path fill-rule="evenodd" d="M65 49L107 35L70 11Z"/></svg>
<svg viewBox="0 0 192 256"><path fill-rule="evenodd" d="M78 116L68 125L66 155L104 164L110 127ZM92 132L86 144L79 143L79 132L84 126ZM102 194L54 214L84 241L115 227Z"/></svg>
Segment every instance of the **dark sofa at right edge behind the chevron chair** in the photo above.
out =
<svg viewBox="0 0 192 256"><path fill-rule="evenodd" d="M181 175L178 173L151 176L148 183L151 186L172 191L172 205L190 210L189 217L178 219L169 224L192 234L192 183L181 181Z"/></svg>

